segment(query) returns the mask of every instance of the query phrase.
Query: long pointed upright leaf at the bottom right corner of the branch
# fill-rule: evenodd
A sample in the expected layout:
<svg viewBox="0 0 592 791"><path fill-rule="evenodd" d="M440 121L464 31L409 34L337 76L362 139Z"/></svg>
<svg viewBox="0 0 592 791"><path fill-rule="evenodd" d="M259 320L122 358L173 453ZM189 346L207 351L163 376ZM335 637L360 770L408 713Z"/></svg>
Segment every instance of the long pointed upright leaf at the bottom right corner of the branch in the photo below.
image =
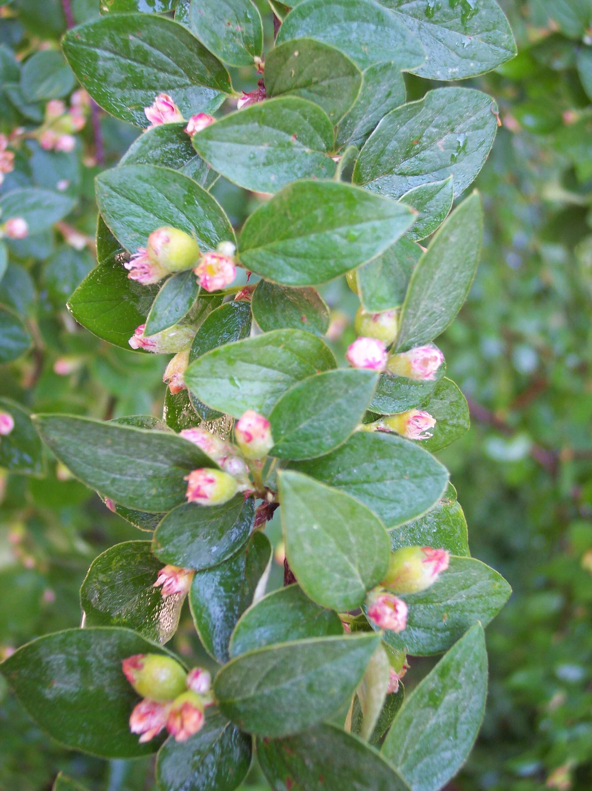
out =
<svg viewBox="0 0 592 791"><path fill-rule="evenodd" d="M386 735L383 755L413 791L443 788L465 763L486 695L485 634L476 624L405 698Z"/></svg>

